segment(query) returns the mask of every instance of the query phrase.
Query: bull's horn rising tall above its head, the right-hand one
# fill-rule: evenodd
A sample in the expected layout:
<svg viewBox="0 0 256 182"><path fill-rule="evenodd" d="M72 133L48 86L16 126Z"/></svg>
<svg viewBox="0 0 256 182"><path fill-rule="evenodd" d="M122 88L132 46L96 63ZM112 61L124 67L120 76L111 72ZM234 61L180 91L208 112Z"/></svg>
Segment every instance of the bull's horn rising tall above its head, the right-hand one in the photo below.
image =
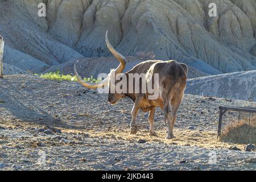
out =
<svg viewBox="0 0 256 182"><path fill-rule="evenodd" d="M115 49L111 46L111 44L109 43L109 39L108 39L108 31L106 31L106 45L109 49L109 51L119 60L120 64L117 67L117 69L115 69L115 74L118 73L122 73L123 69L125 69L126 66L126 59L125 57L123 57L123 55L121 55L121 53L115 51Z"/></svg>

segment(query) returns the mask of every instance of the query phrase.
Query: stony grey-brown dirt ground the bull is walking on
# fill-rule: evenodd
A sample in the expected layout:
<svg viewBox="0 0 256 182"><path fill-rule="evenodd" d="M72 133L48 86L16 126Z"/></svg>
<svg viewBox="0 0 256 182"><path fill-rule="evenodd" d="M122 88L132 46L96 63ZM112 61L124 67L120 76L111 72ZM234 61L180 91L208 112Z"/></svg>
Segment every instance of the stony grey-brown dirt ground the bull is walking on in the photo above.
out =
<svg viewBox="0 0 256 182"><path fill-rule="evenodd" d="M129 99L112 106L105 94L75 82L32 75L0 80L1 170L255 170L255 152L245 144L217 140L218 106L249 106L186 94L167 140L163 113L156 111L157 137L148 136L147 114L130 135ZM236 146L241 151L229 150Z"/></svg>

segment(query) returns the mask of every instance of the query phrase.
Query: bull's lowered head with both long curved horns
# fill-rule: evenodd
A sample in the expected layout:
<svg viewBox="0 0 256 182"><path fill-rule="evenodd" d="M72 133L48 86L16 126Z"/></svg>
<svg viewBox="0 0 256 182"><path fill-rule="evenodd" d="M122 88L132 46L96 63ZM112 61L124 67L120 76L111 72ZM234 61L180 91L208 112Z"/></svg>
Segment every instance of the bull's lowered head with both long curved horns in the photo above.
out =
<svg viewBox="0 0 256 182"><path fill-rule="evenodd" d="M117 74L122 73L123 70L125 69L126 59L125 59L125 57L123 57L123 55L121 55L121 53L115 51L115 49L109 43L108 31L106 31L105 39L106 39L106 45L107 45L109 51L119 60L119 62L120 62L119 66L109 73L108 78L105 78L105 80L102 80L101 82L98 82L98 83L90 83L90 82L86 82L86 81L82 80L82 78L79 76L79 74L76 71L76 65L75 65L75 74L76 74L76 77L77 77L77 81L81 85L85 86L86 88L98 89L98 88L102 88L103 86L108 85L109 86L108 102L110 104L115 104L115 103L117 103L117 101L119 99L125 97L125 94L124 93L117 93L117 92L113 93L113 92L111 92L110 88L113 88L113 87L115 88L115 85L118 83L118 81L115 81L115 76Z"/></svg>

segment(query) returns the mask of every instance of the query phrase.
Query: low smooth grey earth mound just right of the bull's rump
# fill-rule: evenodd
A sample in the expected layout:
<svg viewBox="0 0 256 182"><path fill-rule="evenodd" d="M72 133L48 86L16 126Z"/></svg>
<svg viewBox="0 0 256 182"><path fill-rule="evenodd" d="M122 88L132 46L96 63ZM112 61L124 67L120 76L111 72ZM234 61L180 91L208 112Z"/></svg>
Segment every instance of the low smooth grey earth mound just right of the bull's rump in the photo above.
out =
<svg viewBox="0 0 256 182"><path fill-rule="evenodd" d="M185 93L256 101L256 71L189 79Z"/></svg>

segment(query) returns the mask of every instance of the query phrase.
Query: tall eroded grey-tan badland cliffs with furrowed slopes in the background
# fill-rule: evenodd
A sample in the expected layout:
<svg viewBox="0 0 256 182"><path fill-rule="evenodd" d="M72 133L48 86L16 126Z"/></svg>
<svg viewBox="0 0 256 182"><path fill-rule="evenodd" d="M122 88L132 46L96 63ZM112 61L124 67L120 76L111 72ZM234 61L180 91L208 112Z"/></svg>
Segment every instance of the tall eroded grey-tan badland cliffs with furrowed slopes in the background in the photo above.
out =
<svg viewBox="0 0 256 182"><path fill-rule="evenodd" d="M37 15L40 2L1 1L0 32L8 46L47 65L109 56L109 30L125 56L154 52L208 74L256 68L254 0L44 0L46 18ZM208 15L209 3L217 17Z"/></svg>

